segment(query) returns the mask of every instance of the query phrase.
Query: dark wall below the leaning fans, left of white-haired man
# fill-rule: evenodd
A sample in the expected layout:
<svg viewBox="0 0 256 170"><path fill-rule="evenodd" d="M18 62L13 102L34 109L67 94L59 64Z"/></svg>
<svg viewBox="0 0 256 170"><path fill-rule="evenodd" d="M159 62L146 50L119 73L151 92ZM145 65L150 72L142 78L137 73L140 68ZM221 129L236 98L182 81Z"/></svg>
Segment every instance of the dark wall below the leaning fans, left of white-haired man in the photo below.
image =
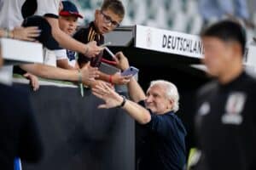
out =
<svg viewBox="0 0 256 170"><path fill-rule="evenodd" d="M134 169L134 121L124 111L96 109L102 101L90 90L81 98L78 88L15 86L30 91L44 143L43 160L23 169Z"/></svg>

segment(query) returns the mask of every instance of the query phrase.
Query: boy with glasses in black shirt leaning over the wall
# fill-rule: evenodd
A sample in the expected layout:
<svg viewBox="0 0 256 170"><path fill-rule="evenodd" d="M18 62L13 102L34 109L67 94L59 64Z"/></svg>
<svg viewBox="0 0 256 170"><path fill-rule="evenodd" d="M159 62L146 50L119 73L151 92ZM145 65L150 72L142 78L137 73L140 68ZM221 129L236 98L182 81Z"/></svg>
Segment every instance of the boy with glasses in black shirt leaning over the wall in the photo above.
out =
<svg viewBox="0 0 256 170"><path fill-rule="evenodd" d="M97 45L104 43L104 34L113 31L119 26L119 23L124 19L125 8L119 0L105 0L102 3L101 9L96 9L95 20L90 22L89 26L81 28L73 36L79 42L96 41ZM102 53L98 54L95 59L90 59L84 54L79 54L79 66L82 67L88 61L91 65L99 67L102 61ZM113 84L125 84L129 82L130 77L121 77L119 73L108 75L100 72L100 80ZM95 82L92 82L95 84ZM93 84L91 84L93 86Z"/></svg>

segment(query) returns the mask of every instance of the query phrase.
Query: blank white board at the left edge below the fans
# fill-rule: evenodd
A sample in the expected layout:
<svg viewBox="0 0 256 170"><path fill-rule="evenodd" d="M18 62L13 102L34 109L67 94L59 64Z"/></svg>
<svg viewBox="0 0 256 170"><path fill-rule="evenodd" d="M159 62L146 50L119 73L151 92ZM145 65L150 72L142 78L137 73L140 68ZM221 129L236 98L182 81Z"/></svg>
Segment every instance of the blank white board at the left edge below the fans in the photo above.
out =
<svg viewBox="0 0 256 170"><path fill-rule="evenodd" d="M0 38L0 44L3 59L43 63L43 46L41 43Z"/></svg>

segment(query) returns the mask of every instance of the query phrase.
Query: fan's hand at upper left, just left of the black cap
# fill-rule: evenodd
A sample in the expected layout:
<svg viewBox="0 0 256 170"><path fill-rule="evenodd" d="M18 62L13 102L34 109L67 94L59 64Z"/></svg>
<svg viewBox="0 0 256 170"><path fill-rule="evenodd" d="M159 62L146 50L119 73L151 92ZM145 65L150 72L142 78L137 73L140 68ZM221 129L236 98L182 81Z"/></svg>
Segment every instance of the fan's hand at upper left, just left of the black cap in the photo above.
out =
<svg viewBox="0 0 256 170"><path fill-rule="evenodd" d="M10 37L25 40L25 41L35 41L35 37L40 35L40 30L38 30L37 26L29 26L29 27L15 27L13 31L10 32Z"/></svg>

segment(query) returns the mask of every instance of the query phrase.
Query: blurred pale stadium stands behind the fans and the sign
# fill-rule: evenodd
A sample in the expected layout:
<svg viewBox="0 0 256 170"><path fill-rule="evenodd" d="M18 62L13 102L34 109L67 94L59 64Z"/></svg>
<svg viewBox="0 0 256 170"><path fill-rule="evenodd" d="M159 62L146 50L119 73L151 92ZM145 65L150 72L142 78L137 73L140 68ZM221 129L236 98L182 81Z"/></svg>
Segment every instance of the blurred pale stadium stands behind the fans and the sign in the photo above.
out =
<svg viewBox="0 0 256 170"><path fill-rule="evenodd" d="M255 0L123 0L122 2L126 11L122 26L137 24L198 34L205 24L204 18L217 21L228 17L220 14L230 11L234 17L246 21L244 24L248 36L255 36L253 26L256 23ZM100 7L102 0L74 0L74 3L79 7L81 14L84 14L84 20L80 20L80 23L87 23L94 19L94 10ZM220 4L214 7L213 3ZM214 8L218 8L216 11L218 16L213 16L214 14L208 16L210 14L206 12L211 13Z"/></svg>

